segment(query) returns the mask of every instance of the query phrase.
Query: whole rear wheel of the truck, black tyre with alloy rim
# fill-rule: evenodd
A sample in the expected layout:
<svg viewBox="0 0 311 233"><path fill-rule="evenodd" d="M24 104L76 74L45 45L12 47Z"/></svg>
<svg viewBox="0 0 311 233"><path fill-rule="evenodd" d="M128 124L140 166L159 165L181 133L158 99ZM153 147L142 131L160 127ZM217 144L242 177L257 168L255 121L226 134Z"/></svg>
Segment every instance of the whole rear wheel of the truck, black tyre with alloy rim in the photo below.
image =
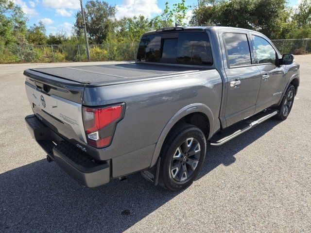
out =
<svg viewBox="0 0 311 233"><path fill-rule="evenodd" d="M196 126L182 123L166 138L160 156L158 183L171 191L191 185L200 172L206 153L206 138Z"/></svg>

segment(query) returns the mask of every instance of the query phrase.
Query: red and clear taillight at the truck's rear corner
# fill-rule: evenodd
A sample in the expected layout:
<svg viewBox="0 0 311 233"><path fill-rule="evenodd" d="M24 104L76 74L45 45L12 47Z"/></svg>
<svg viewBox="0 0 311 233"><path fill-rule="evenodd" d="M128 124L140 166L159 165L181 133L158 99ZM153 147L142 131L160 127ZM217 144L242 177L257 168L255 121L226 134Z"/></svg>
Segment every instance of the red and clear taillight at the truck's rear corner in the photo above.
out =
<svg viewBox="0 0 311 233"><path fill-rule="evenodd" d="M116 124L123 118L125 104L83 107L87 143L96 148L110 145Z"/></svg>

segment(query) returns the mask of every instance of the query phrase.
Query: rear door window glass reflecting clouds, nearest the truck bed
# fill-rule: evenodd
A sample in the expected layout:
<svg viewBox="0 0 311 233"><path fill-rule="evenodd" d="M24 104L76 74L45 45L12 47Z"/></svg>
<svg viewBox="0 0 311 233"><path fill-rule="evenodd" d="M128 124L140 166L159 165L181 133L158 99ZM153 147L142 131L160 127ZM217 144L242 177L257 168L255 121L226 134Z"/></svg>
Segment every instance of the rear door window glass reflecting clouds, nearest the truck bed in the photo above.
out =
<svg viewBox="0 0 311 233"><path fill-rule="evenodd" d="M243 33L224 33L223 36L229 67L251 65L247 35Z"/></svg>

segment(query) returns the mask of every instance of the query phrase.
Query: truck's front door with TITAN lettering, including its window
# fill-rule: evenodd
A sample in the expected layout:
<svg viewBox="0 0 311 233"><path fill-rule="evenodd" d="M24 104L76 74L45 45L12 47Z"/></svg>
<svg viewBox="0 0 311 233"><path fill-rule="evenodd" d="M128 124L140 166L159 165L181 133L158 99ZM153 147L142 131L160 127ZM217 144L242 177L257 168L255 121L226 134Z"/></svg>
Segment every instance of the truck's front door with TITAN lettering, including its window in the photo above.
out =
<svg viewBox="0 0 311 233"><path fill-rule="evenodd" d="M270 42L260 34L252 33L255 63L261 73L256 113L276 104L285 85L282 67L276 66L278 54Z"/></svg>

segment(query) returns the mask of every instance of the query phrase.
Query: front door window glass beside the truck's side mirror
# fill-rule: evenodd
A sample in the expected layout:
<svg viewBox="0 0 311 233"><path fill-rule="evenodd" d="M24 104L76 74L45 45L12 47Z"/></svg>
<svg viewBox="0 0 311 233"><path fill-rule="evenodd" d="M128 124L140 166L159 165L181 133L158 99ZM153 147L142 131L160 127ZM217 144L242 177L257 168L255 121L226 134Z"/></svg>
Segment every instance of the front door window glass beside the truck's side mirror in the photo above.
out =
<svg viewBox="0 0 311 233"><path fill-rule="evenodd" d="M257 64L272 63L276 64L276 50L268 41L260 36L253 35Z"/></svg>

